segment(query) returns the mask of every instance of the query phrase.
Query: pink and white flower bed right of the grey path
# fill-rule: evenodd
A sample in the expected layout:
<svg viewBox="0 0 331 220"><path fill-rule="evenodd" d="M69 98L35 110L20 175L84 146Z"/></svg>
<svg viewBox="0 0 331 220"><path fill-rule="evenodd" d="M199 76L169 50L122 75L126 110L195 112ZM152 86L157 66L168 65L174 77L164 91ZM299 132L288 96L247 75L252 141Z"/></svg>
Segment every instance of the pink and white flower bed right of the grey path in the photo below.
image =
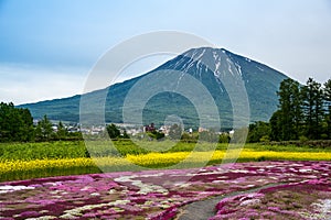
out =
<svg viewBox="0 0 331 220"><path fill-rule="evenodd" d="M281 185L222 199L216 205L217 219L330 219L330 182ZM244 218L243 218L244 217Z"/></svg>

